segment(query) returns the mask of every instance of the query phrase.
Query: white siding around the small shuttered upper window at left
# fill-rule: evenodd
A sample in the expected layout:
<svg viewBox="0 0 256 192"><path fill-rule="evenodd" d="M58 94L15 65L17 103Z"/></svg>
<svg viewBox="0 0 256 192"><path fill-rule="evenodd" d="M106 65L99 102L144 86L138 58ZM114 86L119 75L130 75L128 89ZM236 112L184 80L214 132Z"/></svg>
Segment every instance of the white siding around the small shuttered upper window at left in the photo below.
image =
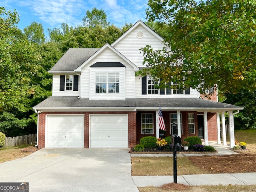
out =
<svg viewBox="0 0 256 192"><path fill-rule="evenodd" d="M64 74L54 74L52 77L52 96L80 96L80 76L78 76L78 91L60 91L60 75Z"/></svg>

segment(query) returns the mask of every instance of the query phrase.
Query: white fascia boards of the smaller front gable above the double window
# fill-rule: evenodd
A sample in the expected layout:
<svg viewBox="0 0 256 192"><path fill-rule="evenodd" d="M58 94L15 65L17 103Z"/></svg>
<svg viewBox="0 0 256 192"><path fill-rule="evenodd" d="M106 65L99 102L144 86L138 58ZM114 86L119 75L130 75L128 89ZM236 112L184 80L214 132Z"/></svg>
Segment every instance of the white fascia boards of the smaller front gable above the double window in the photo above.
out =
<svg viewBox="0 0 256 192"><path fill-rule="evenodd" d="M80 65L78 68L76 68L74 71L75 72L81 72L82 68L88 64L89 62L91 62L91 60L93 60L94 58L96 58L96 56L98 56L102 51L104 51L106 48L110 48L113 52L115 52L118 56L120 56L122 59L124 59L127 63L129 63L131 66L134 67L134 70L138 71L139 68L132 63L130 60L128 60L125 56L123 56L120 52L118 52L115 48L113 48L110 44L106 43L102 48L100 48L96 53L94 53L90 58L88 58L88 60L86 60L82 65Z"/></svg>

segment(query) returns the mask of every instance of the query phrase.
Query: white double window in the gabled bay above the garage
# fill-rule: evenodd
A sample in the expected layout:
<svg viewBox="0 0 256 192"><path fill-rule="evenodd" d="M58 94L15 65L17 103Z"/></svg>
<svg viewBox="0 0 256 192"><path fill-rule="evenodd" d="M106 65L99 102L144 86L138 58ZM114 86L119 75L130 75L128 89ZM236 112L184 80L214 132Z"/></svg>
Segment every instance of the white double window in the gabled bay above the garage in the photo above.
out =
<svg viewBox="0 0 256 192"><path fill-rule="evenodd" d="M119 73L96 73L96 93L119 93Z"/></svg>

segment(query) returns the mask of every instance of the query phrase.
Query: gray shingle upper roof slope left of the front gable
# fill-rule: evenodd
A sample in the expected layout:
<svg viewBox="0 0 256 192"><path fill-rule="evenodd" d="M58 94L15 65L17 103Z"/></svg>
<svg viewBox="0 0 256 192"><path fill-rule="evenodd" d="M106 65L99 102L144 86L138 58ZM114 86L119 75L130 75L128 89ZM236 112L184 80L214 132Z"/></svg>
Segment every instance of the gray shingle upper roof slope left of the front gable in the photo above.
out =
<svg viewBox="0 0 256 192"><path fill-rule="evenodd" d="M99 48L69 48L68 51L49 70L51 71L73 71L83 64Z"/></svg>

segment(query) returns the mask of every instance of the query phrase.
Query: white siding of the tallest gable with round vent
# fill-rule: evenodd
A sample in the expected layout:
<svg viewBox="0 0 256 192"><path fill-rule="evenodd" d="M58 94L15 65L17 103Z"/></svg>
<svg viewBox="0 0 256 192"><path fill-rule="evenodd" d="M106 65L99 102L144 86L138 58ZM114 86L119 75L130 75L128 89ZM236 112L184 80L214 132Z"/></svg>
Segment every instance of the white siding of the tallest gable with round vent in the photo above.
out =
<svg viewBox="0 0 256 192"><path fill-rule="evenodd" d="M143 38L138 38L137 32L143 32ZM144 56L139 49L144 48L146 45L151 45L152 48L156 50L164 47L164 44L158 38L152 35L152 33L142 26L138 26L132 32L130 32L130 34L118 42L114 48L132 61L136 66L145 67L145 65L142 65Z"/></svg>

